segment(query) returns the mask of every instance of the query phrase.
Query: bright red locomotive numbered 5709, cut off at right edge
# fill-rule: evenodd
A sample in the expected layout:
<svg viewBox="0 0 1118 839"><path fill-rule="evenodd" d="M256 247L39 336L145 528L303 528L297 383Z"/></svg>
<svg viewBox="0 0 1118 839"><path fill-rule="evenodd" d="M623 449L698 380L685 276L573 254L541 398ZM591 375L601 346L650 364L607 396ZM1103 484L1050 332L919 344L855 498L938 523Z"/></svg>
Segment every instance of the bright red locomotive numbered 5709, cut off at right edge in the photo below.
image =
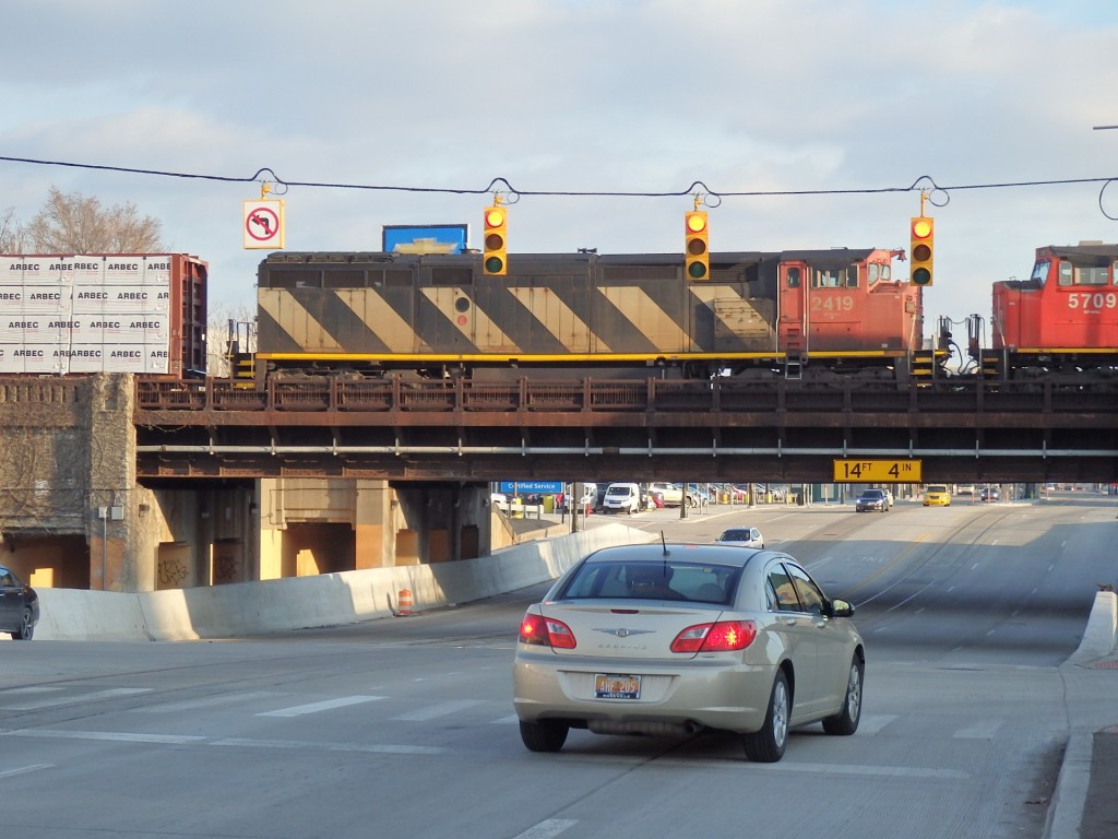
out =
<svg viewBox="0 0 1118 839"><path fill-rule="evenodd" d="M1118 245L1036 248L1027 280L993 285L991 334L967 319L966 373L985 379L1118 378Z"/></svg>

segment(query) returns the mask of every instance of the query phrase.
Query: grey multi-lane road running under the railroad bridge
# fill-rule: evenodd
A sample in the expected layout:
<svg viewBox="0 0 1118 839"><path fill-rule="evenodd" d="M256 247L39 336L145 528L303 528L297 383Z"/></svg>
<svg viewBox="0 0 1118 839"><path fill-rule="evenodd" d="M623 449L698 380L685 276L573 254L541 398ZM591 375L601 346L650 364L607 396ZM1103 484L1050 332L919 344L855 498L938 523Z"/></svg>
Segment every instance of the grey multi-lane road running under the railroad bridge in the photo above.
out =
<svg viewBox="0 0 1118 839"><path fill-rule="evenodd" d="M858 605L869 652L859 734L797 730L778 764L751 764L716 735L572 732L559 754L527 752L510 662L543 586L266 638L2 644L0 830L1039 838L1074 720L1069 697L1118 696L1118 668L1086 688L1061 669L1103 563L1115 572L1115 513L1096 497L634 517L695 540L748 517Z"/></svg>

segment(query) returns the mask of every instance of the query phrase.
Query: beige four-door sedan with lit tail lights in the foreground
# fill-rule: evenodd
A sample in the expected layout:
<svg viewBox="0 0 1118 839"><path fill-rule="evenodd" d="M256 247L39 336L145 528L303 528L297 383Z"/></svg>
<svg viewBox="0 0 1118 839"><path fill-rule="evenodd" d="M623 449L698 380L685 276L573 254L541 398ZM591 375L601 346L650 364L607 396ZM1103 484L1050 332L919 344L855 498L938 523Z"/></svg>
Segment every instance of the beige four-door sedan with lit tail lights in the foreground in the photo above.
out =
<svg viewBox="0 0 1118 839"><path fill-rule="evenodd" d="M827 734L853 734L865 671L853 613L776 552L603 548L521 621L521 739L532 752L558 752L571 728L681 737L710 729L739 735L749 760L771 763L794 726L822 720Z"/></svg>

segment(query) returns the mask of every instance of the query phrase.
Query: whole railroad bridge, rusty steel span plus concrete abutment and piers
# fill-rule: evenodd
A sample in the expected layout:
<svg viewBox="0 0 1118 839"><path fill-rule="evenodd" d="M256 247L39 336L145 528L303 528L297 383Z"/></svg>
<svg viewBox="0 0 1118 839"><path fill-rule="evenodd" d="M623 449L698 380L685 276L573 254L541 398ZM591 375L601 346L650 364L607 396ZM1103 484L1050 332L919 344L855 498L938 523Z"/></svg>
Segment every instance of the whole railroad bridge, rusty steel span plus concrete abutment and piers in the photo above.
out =
<svg viewBox="0 0 1118 839"><path fill-rule="evenodd" d="M493 480L1118 480L1112 384L0 379L0 563L154 591L468 559ZM323 480L326 479L326 480Z"/></svg>

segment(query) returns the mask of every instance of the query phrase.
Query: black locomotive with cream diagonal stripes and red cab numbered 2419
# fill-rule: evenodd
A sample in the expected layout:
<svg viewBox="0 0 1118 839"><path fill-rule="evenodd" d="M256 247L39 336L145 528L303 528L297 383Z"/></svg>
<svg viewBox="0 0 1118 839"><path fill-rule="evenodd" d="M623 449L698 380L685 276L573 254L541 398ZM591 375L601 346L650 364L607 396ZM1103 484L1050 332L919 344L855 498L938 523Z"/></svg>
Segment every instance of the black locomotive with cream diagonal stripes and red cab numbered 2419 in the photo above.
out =
<svg viewBox="0 0 1118 839"><path fill-rule="evenodd" d="M257 277L259 375L354 371L870 378L931 375L921 289L885 249L711 255L274 253ZM645 371L645 373L642 373Z"/></svg>

